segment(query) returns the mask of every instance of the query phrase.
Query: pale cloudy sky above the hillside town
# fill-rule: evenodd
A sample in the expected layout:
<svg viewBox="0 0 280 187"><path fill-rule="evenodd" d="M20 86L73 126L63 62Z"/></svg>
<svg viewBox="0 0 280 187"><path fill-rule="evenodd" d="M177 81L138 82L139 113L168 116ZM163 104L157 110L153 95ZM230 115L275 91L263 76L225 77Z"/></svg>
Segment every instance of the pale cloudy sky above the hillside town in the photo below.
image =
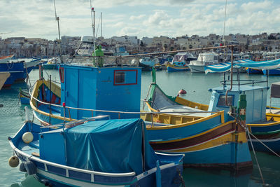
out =
<svg viewBox="0 0 280 187"><path fill-rule="evenodd" d="M226 16L225 4L227 2ZM280 0L92 0L101 36L280 32ZM90 0L56 0L61 36L92 36ZM224 21L225 20L225 21ZM53 0L1 0L0 37L58 38Z"/></svg>

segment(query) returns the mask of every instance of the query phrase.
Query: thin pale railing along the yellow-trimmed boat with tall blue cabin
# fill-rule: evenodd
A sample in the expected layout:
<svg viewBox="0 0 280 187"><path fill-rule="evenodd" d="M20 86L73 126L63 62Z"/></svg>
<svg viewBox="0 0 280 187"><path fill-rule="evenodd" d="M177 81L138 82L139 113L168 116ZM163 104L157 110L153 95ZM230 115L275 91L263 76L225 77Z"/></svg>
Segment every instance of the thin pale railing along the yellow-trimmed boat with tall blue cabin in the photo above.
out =
<svg viewBox="0 0 280 187"><path fill-rule="evenodd" d="M34 83L35 85L36 83ZM151 118L152 118L152 123L153 123L153 114L178 114L178 113L218 113L218 111L139 111L139 112L135 112L135 111L107 111L107 110L98 110L98 109L83 109L83 108L77 108L77 107L72 107L72 106L62 106L59 104L52 104L50 102L42 102L39 99L35 98L32 94L31 91L34 89L34 85L31 86L31 88L29 89L29 95L30 95L30 102L33 102L33 100L36 100L36 102L39 102L41 104L45 104L45 105L49 105L49 106L57 106L60 108L65 108L68 109L69 114L70 114L70 109L73 110L78 110L78 111L91 111L92 112L92 117L94 117L94 112L102 112L102 113L118 113L118 118L120 118L120 114L151 114ZM37 106L36 106L37 108ZM69 115L69 118L71 118L71 116ZM75 120L72 119L71 120Z"/></svg>

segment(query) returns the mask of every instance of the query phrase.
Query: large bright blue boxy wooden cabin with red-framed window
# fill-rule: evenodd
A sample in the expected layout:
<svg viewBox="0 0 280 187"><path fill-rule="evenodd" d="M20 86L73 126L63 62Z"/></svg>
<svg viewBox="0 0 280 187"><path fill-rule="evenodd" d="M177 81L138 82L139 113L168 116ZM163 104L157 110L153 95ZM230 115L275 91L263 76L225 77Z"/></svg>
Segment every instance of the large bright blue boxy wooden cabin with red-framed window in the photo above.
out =
<svg viewBox="0 0 280 187"><path fill-rule="evenodd" d="M140 111L141 69L138 67L82 67L62 65L61 102L66 106L106 111ZM61 109L61 116L63 116ZM139 118L139 114L104 113L70 109L66 117L82 119L110 115L111 118Z"/></svg>

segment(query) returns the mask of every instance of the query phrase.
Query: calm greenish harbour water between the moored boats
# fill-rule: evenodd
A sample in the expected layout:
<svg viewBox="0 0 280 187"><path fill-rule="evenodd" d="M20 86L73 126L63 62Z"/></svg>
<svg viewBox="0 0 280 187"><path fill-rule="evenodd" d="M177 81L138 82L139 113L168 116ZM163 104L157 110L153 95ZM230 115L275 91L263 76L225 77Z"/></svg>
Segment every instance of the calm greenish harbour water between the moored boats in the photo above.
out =
<svg viewBox="0 0 280 187"><path fill-rule="evenodd" d="M52 74L52 80L59 81L57 71L49 70L44 77ZM38 78L38 70L31 71L31 83ZM243 79L258 79L265 81L262 75L241 74ZM203 104L208 104L211 93L209 88L219 86L219 81L223 80L223 74L192 74L190 72L157 71L157 83L167 95L175 96L182 88L187 91L183 96ZM270 76L269 85L280 81L280 76ZM141 99L146 98L149 85L151 83L151 72L142 73ZM265 85L265 83L263 84ZM0 186L43 186L34 179L33 176L26 176L20 172L18 167L8 166L8 158L13 152L8 144L8 136L13 136L25 121L25 106L19 103L18 90L26 88L25 83L13 85L9 90L0 90ZM272 100L274 106L280 106L280 99ZM32 119L29 107L29 118ZM253 158L253 153L252 153ZM262 175L267 186L280 186L280 158L265 153L257 153ZM216 169L184 169L183 176L186 186L262 186L262 179L258 172L258 167L253 158L253 171L245 174L233 174L225 170Z"/></svg>

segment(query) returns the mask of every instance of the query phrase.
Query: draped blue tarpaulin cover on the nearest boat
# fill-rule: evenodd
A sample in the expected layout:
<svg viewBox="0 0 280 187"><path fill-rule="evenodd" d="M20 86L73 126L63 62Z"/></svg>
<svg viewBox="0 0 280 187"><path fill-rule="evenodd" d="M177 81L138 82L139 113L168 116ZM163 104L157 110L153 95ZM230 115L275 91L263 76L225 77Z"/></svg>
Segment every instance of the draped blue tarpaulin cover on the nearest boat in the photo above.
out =
<svg viewBox="0 0 280 187"><path fill-rule="evenodd" d="M98 172L144 172L155 167L158 156L141 119L100 120L65 130L67 165ZM143 144L144 139L144 144Z"/></svg>

